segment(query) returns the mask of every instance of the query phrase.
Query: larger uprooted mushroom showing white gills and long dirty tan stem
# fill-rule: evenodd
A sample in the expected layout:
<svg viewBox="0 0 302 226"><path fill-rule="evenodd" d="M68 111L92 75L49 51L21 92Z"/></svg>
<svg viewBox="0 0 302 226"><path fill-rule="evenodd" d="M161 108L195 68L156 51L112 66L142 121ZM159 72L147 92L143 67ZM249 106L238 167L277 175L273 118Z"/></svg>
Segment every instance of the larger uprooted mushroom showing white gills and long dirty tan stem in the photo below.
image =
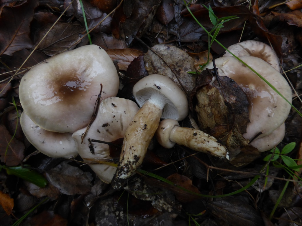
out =
<svg viewBox="0 0 302 226"><path fill-rule="evenodd" d="M115 189L142 164L160 118L180 121L188 114L185 94L162 75L153 74L138 81L133 86L133 96L141 108L125 133L120 162L112 180Z"/></svg>

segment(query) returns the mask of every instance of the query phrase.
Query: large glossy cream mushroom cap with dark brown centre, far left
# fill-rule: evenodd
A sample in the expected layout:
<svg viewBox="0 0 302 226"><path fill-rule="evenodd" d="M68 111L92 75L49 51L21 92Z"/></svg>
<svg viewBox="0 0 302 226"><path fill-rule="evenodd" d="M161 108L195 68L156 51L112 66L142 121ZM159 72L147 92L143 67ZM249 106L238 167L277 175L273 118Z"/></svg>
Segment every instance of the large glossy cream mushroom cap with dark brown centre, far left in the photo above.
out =
<svg viewBox="0 0 302 226"><path fill-rule="evenodd" d="M101 83L101 99L116 96L119 78L112 60L99 46L82 46L28 71L19 86L20 102L43 129L75 132L89 123Z"/></svg>

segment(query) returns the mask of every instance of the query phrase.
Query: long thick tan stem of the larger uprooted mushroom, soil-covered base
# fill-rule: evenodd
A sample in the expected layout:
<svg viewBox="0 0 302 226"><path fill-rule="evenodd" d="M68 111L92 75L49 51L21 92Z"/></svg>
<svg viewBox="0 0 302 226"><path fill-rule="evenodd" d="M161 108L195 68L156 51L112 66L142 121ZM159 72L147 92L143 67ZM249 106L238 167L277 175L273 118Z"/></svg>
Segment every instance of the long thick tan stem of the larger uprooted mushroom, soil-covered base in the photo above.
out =
<svg viewBox="0 0 302 226"><path fill-rule="evenodd" d="M157 95L156 95L157 96ZM149 143L159 125L162 116L163 101L151 98L140 108L128 126L117 171L112 179L112 187L119 189L124 180L142 164Z"/></svg>

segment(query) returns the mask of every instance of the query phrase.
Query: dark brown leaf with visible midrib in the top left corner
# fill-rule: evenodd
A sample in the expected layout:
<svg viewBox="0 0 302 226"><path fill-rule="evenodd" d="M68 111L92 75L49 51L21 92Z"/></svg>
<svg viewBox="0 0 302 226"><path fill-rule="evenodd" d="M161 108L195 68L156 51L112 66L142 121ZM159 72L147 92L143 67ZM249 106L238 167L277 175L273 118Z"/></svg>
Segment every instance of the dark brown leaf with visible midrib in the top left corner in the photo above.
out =
<svg viewBox="0 0 302 226"><path fill-rule="evenodd" d="M31 48L30 23L34 16L37 0L27 0L14 7L4 7L0 17L0 55Z"/></svg>

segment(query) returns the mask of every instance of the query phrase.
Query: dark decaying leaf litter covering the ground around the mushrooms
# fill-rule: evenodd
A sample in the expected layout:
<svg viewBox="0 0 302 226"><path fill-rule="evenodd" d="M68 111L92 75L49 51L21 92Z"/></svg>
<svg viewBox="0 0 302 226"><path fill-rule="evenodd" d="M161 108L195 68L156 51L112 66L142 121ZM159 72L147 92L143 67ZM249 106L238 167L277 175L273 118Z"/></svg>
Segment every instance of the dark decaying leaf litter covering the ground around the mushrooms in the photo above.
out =
<svg viewBox="0 0 302 226"><path fill-rule="evenodd" d="M81 4L68 0L2 2L2 224L12 225L31 210L21 225L301 224L301 185L292 177L294 173L298 175L299 168L292 176L286 168L280 168L286 161L282 156L301 159L301 117L291 110L285 121L285 137L278 145L280 155L273 153L280 158L269 159L271 163L262 161L271 152L259 153L240 138L248 120L246 113L243 114L247 110L242 90L223 77L212 84L213 71L203 75L203 79L202 75L188 74L207 61L209 39L185 9L184 2L126 0L116 8L119 3L83 1L88 29L94 28L90 32L92 43L101 46L119 69L121 83L117 96L134 100L132 87L138 80L148 74L164 74L177 80L190 100L191 114L180 125L202 128L203 122L198 124L196 115L196 95L191 93L194 88L194 92L205 98L203 104L197 104L198 109L204 110L205 103L211 104L213 112L223 109L222 114L221 111L214 114L214 121L211 118L214 126L205 127L205 132L234 147L230 161L196 153L184 146L165 149L153 139L141 170L122 190L113 191L80 157L54 159L38 153L21 130L19 83L28 68L37 63L67 49L88 45ZM217 40L226 47L239 40L271 44L293 86L293 105L300 109L302 6L299 1L280 4L195 1L191 4L194 16L208 31L213 23L209 11L201 4L211 6L218 18L239 17L223 23L217 34ZM213 58L220 57L224 51L216 42L212 43ZM236 93L236 98L230 91L232 95ZM213 95L204 95L209 92ZM206 121L211 122L210 118ZM284 150L291 142L297 144L294 150ZM120 141L115 144L121 146ZM111 145L110 156L118 160L119 151ZM147 172L150 173L144 175ZM262 176L256 180L259 173ZM243 192L223 197L237 190Z"/></svg>

